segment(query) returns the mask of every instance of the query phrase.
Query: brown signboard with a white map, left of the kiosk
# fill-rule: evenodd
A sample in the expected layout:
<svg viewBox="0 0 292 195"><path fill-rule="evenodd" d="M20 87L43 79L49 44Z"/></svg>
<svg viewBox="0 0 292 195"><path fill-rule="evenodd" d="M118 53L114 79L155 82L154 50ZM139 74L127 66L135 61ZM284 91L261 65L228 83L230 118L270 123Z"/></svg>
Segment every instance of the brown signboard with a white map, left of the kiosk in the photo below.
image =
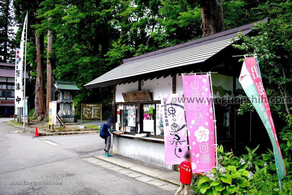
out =
<svg viewBox="0 0 292 195"><path fill-rule="evenodd" d="M82 119L101 119L101 104L81 104Z"/></svg>

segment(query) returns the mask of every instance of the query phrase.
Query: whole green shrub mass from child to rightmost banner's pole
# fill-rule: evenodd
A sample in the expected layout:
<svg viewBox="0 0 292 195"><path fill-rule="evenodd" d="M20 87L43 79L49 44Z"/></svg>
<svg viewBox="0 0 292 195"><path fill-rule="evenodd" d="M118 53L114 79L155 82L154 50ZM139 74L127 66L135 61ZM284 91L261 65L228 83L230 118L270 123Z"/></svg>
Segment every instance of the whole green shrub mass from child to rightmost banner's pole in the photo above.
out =
<svg viewBox="0 0 292 195"><path fill-rule="evenodd" d="M194 191L209 195L279 193L274 154L269 150L258 156L258 147L246 147L248 154L241 157L233 157L231 152L223 152L223 146L218 147L218 176L213 168L207 177L201 176L194 183Z"/></svg>

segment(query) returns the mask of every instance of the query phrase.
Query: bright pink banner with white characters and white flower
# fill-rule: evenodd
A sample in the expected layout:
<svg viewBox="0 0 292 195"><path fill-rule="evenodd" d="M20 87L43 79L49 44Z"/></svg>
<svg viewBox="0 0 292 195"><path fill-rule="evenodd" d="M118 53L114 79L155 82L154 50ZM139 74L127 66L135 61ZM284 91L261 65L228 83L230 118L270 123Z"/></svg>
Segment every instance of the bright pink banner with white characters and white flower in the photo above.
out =
<svg viewBox="0 0 292 195"><path fill-rule="evenodd" d="M192 172L211 171L215 166L215 133L209 75L183 75L183 89Z"/></svg>

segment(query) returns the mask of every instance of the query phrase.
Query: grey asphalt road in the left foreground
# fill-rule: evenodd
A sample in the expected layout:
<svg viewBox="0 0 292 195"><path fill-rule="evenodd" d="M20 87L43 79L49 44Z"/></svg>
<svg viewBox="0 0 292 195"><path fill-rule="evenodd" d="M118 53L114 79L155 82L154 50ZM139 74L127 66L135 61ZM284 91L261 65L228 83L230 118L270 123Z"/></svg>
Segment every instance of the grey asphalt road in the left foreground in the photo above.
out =
<svg viewBox="0 0 292 195"><path fill-rule="evenodd" d="M32 138L8 120L0 118L0 194L171 194L83 160L103 150L98 134Z"/></svg>

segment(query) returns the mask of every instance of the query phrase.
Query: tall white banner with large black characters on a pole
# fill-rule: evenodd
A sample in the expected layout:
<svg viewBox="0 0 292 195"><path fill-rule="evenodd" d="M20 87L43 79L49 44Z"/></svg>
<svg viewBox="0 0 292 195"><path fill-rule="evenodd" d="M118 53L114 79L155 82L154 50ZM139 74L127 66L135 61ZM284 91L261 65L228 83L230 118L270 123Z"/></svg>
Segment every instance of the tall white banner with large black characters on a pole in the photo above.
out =
<svg viewBox="0 0 292 195"><path fill-rule="evenodd" d="M17 108L23 107L24 101L23 101L23 93L22 93L22 74L23 74L23 51L24 51L24 33L25 33L25 25L27 23L27 15L24 19L24 25L21 33L21 40L20 40L20 49L19 49L19 63L18 63L18 69L15 73L15 106Z"/></svg>

